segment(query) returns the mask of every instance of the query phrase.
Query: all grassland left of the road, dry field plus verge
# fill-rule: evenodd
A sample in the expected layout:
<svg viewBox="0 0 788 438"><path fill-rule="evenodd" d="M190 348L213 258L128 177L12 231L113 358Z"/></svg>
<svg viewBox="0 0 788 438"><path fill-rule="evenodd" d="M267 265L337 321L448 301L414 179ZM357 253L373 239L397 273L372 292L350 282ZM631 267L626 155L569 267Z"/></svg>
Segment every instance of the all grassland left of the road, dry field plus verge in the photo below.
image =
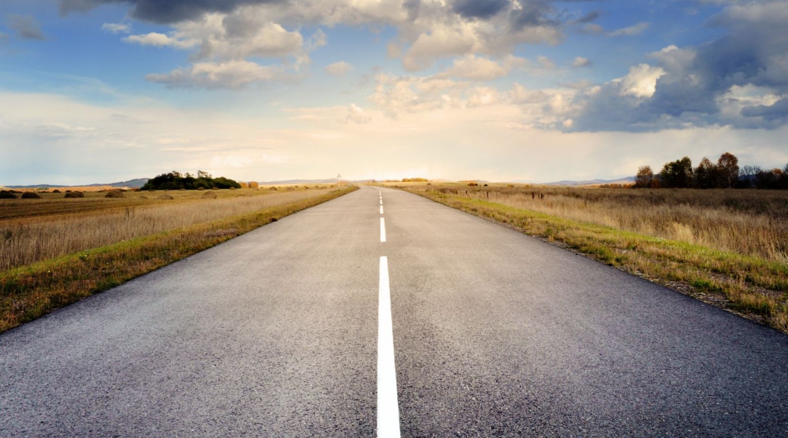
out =
<svg viewBox="0 0 788 438"><path fill-rule="evenodd" d="M0 199L0 332L358 187L269 188Z"/></svg>

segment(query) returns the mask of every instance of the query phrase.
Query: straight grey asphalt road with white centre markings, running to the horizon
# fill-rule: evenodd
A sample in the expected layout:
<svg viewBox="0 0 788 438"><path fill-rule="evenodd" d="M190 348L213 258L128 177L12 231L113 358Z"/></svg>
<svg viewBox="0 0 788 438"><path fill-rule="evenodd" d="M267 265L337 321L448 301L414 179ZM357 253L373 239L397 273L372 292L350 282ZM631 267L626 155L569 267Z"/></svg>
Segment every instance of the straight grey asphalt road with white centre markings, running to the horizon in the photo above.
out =
<svg viewBox="0 0 788 438"><path fill-rule="evenodd" d="M381 193L0 335L0 436L788 436L788 336Z"/></svg>

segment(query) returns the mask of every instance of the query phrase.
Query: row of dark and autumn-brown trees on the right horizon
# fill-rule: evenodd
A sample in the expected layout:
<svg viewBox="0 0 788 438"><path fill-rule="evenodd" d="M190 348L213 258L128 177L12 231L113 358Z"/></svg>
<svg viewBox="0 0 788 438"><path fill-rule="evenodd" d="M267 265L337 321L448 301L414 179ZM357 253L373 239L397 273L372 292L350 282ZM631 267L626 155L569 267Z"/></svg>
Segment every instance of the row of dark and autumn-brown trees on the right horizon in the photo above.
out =
<svg viewBox="0 0 788 438"><path fill-rule="evenodd" d="M738 158L730 152L719 156L716 163L704 157L693 168L689 157L669 161L660 173L651 166L637 169L636 188L771 188L788 189L788 164L783 169L761 169L738 166Z"/></svg>

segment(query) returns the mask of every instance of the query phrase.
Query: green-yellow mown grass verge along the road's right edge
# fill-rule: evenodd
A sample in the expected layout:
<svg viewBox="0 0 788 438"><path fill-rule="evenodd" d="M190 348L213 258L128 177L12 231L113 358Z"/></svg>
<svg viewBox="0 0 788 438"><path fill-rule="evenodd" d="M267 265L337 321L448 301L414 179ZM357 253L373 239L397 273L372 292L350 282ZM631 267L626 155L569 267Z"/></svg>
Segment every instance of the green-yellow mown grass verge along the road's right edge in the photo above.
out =
<svg viewBox="0 0 788 438"><path fill-rule="evenodd" d="M408 190L788 333L788 265L481 199Z"/></svg>

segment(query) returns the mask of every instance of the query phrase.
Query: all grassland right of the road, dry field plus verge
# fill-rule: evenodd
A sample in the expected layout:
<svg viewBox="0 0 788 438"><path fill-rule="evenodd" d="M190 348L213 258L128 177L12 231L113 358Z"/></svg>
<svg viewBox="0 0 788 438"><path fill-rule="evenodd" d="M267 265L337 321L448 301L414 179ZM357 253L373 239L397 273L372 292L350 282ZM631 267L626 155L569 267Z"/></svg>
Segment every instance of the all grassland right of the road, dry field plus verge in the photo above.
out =
<svg viewBox="0 0 788 438"><path fill-rule="evenodd" d="M788 191L386 184L788 332Z"/></svg>

